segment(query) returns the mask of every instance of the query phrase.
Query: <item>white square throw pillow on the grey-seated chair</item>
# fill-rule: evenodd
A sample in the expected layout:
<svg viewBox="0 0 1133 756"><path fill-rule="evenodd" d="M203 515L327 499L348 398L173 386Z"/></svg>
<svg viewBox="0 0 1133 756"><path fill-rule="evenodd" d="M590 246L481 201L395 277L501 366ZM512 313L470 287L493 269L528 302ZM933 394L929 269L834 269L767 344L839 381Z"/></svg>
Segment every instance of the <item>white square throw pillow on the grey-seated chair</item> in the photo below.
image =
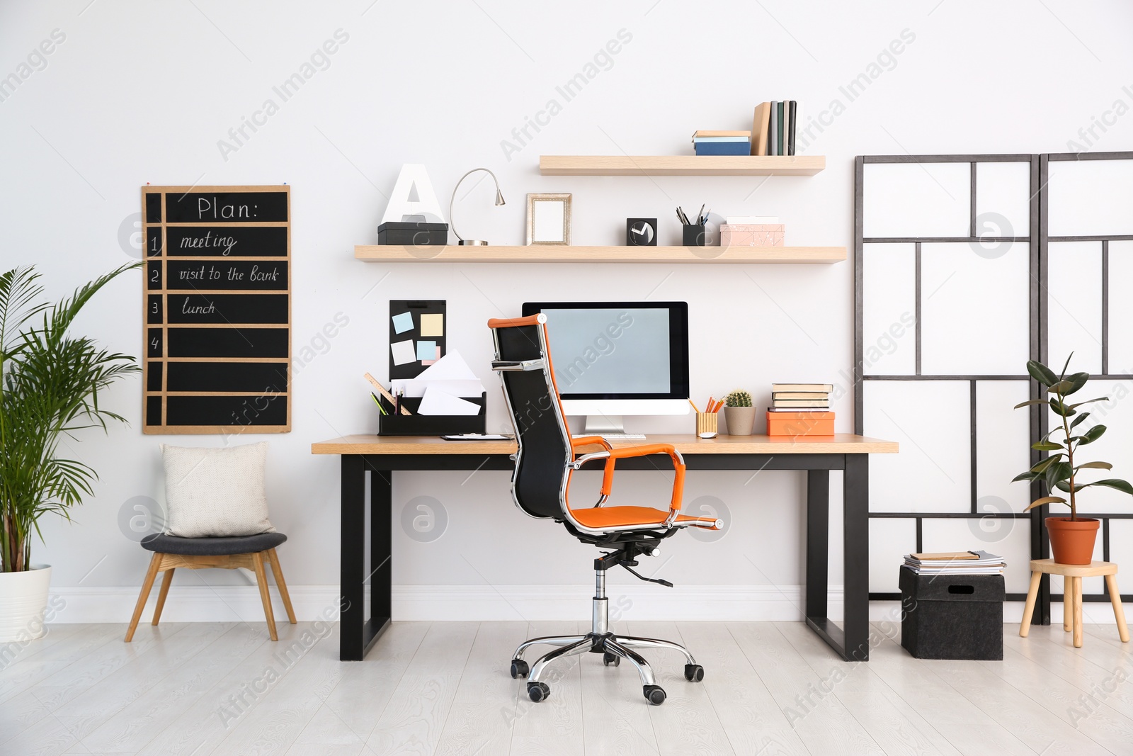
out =
<svg viewBox="0 0 1133 756"><path fill-rule="evenodd" d="M182 538L274 533L264 493L267 442L228 449L161 444L165 533Z"/></svg>

